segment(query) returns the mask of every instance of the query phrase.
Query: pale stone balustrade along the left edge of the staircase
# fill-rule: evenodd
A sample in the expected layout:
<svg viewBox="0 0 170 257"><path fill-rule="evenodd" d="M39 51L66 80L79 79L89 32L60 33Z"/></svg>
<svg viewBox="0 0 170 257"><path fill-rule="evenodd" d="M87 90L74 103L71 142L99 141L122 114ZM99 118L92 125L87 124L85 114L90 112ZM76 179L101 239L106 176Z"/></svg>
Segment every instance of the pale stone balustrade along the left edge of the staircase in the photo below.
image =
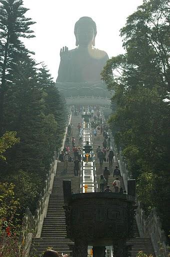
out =
<svg viewBox="0 0 170 257"><path fill-rule="evenodd" d="M67 126L71 117L71 106L69 107L69 110L67 112L67 118L65 122L65 131L67 131ZM40 223L40 215L42 214L45 206L45 201L47 199L47 196L49 194L50 189L50 182L52 174L54 174L55 169L55 161L58 158L60 153L60 149L58 149L58 152L54 152L53 155L53 161L50 164L50 169L48 170L46 174L46 180L45 180L45 186L42 190L42 193L39 194L39 200L36 204L36 210L34 211L34 215L30 212L29 208L26 207L25 213L22 218L22 226L19 233L19 249L24 250L25 257L29 254L30 244L32 237L36 236L39 223Z"/></svg>

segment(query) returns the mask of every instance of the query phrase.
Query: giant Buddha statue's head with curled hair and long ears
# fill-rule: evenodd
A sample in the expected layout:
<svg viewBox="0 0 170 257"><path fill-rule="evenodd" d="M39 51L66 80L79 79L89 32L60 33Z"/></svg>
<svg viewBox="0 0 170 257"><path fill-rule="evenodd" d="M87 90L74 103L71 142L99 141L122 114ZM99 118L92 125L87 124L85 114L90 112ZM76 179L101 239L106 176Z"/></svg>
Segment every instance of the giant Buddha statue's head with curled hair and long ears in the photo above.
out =
<svg viewBox="0 0 170 257"><path fill-rule="evenodd" d="M95 36L97 34L95 22L90 17L81 17L74 26L76 46L95 46Z"/></svg>

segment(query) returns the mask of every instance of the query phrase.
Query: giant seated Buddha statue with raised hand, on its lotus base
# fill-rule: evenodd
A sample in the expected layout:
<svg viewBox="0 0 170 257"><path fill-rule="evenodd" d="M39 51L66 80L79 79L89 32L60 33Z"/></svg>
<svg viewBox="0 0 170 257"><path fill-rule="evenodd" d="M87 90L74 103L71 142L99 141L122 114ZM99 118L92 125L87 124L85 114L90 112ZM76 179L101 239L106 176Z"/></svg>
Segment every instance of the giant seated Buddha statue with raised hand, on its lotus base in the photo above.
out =
<svg viewBox="0 0 170 257"><path fill-rule="evenodd" d="M65 91L66 97L94 95L96 92L100 96L107 94L100 73L108 60L108 55L94 47L96 33L95 22L89 17L81 17L74 26L76 48L68 50L65 46L60 50L56 86L59 90Z"/></svg>

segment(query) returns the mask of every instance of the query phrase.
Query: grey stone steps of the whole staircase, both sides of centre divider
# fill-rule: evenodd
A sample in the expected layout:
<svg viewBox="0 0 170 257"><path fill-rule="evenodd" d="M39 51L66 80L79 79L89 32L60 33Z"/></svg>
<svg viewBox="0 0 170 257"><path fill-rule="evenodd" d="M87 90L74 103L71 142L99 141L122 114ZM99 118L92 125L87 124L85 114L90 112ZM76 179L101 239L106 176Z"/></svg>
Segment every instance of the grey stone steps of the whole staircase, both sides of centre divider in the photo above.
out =
<svg viewBox="0 0 170 257"><path fill-rule="evenodd" d="M75 138L75 146L79 146L79 135L77 124L81 122L81 116L72 116L71 123L73 124L73 135ZM70 149L72 149L71 145L71 136L70 136ZM103 162L102 167L99 166L99 161L96 158L96 148L100 146L102 148L103 137L99 135L97 138L92 137L93 141L93 152L95 154L95 166L96 166L96 176L97 182L99 182L100 174L103 173L104 167L109 168L108 162ZM73 153L71 152L71 156L73 157ZM113 163L112 168L110 170L110 176L108 180L108 185L112 192L114 192L112 182L115 179L113 177L113 170L117 163ZM63 190L62 190L62 180L70 179L71 180L71 188L74 193L79 193L80 191L80 177L75 177L73 173L73 162L68 163L67 173L63 173L63 163L58 162L56 176L54 177L52 192L49 197L47 215L44 218L41 236L40 238L33 238L32 244L29 252L29 257L39 257L42 256L42 253L47 249L53 249L58 251L59 255L61 253L71 255L71 246L73 242L66 238L66 225L65 225L65 215L63 210ZM120 185L124 190L124 185L122 178L120 178ZM98 190L99 191L99 190ZM153 254L153 248L151 245L150 238L141 238L139 237L136 223L134 223L133 229L133 238L127 241L128 244L132 245L131 256L135 257L139 250L142 250L146 254Z"/></svg>

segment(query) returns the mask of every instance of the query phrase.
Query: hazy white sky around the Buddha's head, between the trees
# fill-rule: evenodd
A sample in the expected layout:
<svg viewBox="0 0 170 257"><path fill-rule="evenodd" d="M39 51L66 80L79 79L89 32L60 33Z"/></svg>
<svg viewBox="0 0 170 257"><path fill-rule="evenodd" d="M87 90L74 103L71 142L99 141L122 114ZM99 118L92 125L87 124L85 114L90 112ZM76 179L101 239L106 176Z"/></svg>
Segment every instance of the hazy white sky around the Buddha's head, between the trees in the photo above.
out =
<svg viewBox="0 0 170 257"><path fill-rule="evenodd" d="M142 0L23 0L30 9L26 16L36 24L31 26L35 38L24 40L25 46L35 52L35 60L43 61L54 80L60 61L62 46L75 48L74 24L82 16L96 23L95 47L115 56L123 52L119 30L126 18L136 11Z"/></svg>

